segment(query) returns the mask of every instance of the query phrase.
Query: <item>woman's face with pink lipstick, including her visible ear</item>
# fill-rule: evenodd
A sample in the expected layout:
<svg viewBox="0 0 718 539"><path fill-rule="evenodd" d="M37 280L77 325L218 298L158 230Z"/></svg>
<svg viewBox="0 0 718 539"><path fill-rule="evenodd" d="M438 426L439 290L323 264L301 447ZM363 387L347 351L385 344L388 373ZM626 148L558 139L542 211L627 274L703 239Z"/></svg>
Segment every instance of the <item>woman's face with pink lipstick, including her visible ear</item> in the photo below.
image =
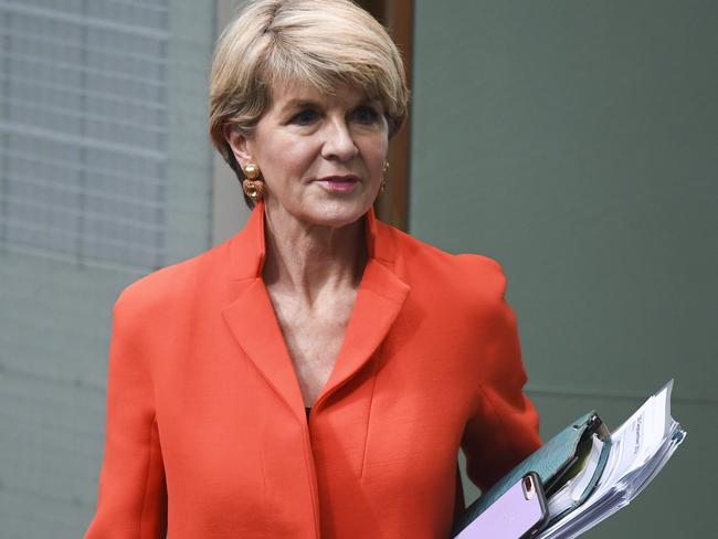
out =
<svg viewBox="0 0 718 539"><path fill-rule="evenodd" d="M373 203L388 125L379 102L348 86L324 95L306 85L274 92L254 134L228 138L240 165L256 163L266 210L307 224L344 226Z"/></svg>

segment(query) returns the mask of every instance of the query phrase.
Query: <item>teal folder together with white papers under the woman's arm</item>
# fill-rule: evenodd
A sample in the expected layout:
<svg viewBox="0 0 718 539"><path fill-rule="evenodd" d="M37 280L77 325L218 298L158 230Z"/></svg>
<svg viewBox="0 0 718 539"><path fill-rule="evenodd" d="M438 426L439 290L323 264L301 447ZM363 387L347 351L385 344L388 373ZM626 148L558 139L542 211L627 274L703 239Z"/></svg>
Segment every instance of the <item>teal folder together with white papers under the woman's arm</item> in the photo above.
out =
<svg viewBox="0 0 718 539"><path fill-rule="evenodd" d="M578 537L626 506L686 436L671 416L672 389L673 380L613 433L595 412L570 423L474 501L454 522L452 537L478 537L483 516L496 512L487 509L529 473L547 499L547 524L539 524L536 539Z"/></svg>

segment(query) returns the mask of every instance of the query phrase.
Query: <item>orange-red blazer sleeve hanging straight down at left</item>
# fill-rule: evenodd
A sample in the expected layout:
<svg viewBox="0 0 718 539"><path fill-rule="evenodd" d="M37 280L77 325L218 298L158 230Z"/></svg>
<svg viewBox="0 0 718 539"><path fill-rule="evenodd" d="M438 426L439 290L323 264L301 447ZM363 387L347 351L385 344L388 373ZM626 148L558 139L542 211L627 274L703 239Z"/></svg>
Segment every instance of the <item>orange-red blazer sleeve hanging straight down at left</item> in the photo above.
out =
<svg viewBox="0 0 718 539"><path fill-rule="evenodd" d="M85 539L166 537L167 489L142 317L120 295L109 348L105 456Z"/></svg>

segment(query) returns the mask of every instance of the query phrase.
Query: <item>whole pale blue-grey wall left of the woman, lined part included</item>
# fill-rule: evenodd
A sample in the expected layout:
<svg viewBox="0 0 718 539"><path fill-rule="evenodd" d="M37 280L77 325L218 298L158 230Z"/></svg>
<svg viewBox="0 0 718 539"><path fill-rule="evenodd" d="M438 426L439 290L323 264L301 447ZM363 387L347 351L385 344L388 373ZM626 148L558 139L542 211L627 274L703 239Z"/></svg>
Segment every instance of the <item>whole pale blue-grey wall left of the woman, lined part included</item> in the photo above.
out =
<svg viewBox="0 0 718 539"><path fill-rule="evenodd" d="M113 304L211 244L213 40L213 0L0 0L2 539L82 537Z"/></svg>

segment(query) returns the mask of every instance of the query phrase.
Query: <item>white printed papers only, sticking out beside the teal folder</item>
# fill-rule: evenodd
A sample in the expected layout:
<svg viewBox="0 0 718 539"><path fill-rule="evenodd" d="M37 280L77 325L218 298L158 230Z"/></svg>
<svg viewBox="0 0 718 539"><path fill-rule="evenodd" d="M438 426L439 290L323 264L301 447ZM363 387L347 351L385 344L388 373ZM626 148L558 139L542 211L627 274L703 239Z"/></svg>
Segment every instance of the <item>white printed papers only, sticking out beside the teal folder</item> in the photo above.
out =
<svg viewBox="0 0 718 539"><path fill-rule="evenodd" d="M610 437L609 457L583 504L555 519L537 539L571 539L626 506L643 490L683 442L686 433L671 416L673 380L651 397ZM564 512L593 475L602 443L594 438L581 473L549 497L549 522Z"/></svg>

